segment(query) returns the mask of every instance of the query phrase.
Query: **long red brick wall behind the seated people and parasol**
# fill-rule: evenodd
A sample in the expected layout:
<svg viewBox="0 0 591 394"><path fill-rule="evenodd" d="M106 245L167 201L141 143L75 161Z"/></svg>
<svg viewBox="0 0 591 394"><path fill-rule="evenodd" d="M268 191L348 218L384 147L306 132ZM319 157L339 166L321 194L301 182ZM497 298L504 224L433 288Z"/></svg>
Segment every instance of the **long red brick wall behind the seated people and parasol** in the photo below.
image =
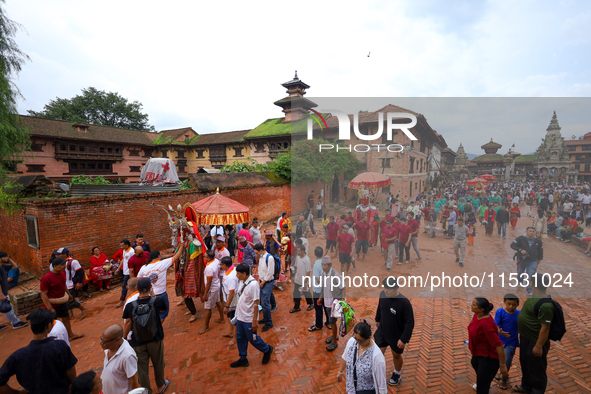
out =
<svg viewBox="0 0 591 394"><path fill-rule="evenodd" d="M153 249L169 248L166 214L157 205L176 207L211 194L187 190L27 202L23 211L13 216L0 213L0 228L8 230L0 238L0 250L14 256L25 269L42 275L51 252L60 247L67 247L82 264L90 264L93 246L112 256L119 241L133 241L139 232ZM291 214L289 185L226 190L223 194L248 206L251 218L257 216L260 221L276 218L282 210ZM27 244L25 213L37 217L40 250Z"/></svg>

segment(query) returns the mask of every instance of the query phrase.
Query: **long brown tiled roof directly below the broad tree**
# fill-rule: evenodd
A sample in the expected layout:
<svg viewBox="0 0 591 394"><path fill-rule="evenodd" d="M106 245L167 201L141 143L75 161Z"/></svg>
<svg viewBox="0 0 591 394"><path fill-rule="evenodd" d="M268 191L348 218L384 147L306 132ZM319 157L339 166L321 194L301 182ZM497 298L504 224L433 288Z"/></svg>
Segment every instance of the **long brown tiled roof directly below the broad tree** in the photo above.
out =
<svg viewBox="0 0 591 394"><path fill-rule="evenodd" d="M73 122L36 118L27 115L20 115L20 117L24 125L29 128L29 133L33 136L115 142L130 145L152 145L152 140L141 130L90 125L88 131L79 132L75 127L72 127ZM156 133L154 135L157 136Z"/></svg>

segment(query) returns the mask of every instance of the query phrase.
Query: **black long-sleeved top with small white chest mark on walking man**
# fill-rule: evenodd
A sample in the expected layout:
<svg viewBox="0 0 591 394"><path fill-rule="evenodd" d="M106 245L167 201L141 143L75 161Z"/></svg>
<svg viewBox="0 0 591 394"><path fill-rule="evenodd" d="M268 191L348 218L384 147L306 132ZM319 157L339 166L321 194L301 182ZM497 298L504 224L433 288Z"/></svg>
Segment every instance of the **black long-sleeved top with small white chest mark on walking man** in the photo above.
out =
<svg viewBox="0 0 591 394"><path fill-rule="evenodd" d="M400 293L388 298L382 291L375 320L380 323L374 334L376 345L380 348L390 346L394 352L402 354L404 349L398 347L398 341L408 343L415 326L414 313L408 298Z"/></svg>

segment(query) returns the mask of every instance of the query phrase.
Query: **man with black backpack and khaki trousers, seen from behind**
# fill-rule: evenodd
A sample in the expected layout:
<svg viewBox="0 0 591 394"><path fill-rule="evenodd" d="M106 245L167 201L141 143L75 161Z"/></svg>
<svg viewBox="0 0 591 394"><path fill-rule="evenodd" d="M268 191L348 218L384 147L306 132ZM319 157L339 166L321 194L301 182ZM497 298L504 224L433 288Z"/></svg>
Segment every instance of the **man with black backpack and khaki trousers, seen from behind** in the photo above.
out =
<svg viewBox="0 0 591 394"><path fill-rule="evenodd" d="M163 393L170 381L164 378L164 330L159 314L167 311L164 300L150 297L152 282L141 278L137 282L138 299L123 310L126 319L123 336L131 332L129 344L135 350L138 360L138 377L141 387L152 394L150 384L150 360L154 366L157 393Z"/></svg>

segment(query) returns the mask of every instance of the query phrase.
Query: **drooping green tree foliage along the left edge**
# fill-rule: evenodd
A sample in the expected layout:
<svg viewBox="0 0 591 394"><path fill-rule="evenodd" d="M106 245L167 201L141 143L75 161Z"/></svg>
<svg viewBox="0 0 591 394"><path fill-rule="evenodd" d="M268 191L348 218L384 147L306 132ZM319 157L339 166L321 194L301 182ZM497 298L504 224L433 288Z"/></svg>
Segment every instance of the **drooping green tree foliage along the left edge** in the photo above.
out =
<svg viewBox="0 0 591 394"><path fill-rule="evenodd" d="M16 100L21 94L12 79L21 71L29 57L16 45L14 35L20 25L4 13L0 0L0 179L6 177L7 167L15 155L29 146L29 134L17 114Z"/></svg>

